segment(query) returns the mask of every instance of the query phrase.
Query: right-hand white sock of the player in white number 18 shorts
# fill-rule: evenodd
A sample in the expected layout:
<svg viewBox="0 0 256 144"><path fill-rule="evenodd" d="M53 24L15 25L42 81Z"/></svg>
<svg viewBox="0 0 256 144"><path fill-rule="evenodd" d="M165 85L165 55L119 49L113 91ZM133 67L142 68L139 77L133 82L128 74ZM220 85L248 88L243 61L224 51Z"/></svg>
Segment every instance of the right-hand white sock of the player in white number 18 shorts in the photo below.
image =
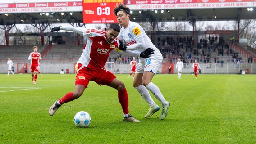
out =
<svg viewBox="0 0 256 144"><path fill-rule="evenodd" d="M160 92L159 88L153 84L152 82L150 82L148 85L146 85L146 88L152 93L154 94L155 98L158 99L161 103L163 107L166 107L168 105L168 103L166 102L163 94Z"/></svg>

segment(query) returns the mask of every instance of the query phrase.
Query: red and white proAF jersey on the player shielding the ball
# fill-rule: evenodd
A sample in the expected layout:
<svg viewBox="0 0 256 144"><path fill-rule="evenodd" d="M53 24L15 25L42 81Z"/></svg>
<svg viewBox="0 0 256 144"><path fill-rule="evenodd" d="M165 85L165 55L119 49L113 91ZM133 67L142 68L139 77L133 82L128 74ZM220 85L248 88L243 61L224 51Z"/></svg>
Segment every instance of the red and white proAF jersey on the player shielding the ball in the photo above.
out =
<svg viewBox="0 0 256 144"><path fill-rule="evenodd" d="M110 52L118 48L119 40L116 38L108 43L105 36L106 31L97 29L86 29L83 35L88 39L78 63L90 69L104 68Z"/></svg>

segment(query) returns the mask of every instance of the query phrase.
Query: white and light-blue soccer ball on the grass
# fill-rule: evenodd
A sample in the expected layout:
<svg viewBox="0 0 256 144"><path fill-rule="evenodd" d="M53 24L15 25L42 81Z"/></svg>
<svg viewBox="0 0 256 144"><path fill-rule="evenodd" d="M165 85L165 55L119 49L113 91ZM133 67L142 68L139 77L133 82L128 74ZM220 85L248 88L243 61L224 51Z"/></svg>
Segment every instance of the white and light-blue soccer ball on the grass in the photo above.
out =
<svg viewBox="0 0 256 144"><path fill-rule="evenodd" d="M88 112L78 112L75 114L74 123L77 127L88 127L91 123L91 116Z"/></svg>

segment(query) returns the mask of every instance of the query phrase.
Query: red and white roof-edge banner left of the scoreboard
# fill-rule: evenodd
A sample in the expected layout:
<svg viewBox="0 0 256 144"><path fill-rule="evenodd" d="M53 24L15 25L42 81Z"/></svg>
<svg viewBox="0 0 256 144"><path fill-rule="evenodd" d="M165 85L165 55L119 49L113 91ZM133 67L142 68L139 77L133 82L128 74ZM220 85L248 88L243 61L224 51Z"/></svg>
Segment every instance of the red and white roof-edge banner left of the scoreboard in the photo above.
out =
<svg viewBox="0 0 256 144"><path fill-rule="evenodd" d="M0 13L76 12L82 1L0 4Z"/></svg>

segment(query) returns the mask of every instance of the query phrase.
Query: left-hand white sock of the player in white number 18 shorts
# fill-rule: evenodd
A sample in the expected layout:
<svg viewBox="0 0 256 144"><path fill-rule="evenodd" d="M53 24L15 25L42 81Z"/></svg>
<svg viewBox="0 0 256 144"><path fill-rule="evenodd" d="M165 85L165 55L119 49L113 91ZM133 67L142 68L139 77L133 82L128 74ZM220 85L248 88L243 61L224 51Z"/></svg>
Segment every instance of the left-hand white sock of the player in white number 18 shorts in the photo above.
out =
<svg viewBox="0 0 256 144"><path fill-rule="evenodd" d="M139 92L139 94L141 94L142 98L150 105L150 107L155 107L156 104L155 104L154 100L151 98L148 90L146 89L146 87L144 85L135 87L135 90L137 90Z"/></svg>

